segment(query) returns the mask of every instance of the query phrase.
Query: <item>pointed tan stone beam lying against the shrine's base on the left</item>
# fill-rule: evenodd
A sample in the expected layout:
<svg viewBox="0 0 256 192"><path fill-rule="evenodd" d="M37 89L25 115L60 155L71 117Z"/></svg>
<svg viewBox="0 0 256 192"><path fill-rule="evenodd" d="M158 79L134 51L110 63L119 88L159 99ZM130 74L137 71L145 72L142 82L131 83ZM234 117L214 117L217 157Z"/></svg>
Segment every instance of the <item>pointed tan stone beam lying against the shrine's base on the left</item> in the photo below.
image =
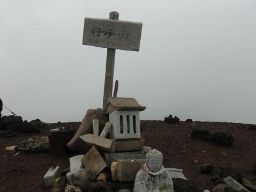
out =
<svg viewBox="0 0 256 192"><path fill-rule="evenodd" d="M93 134L84 134L80 136L81 140L83 140L88 145L96 145L106 152L113 152L113 140L109 140L107 138L100 138L99 136L95 136Z"/></svg>

